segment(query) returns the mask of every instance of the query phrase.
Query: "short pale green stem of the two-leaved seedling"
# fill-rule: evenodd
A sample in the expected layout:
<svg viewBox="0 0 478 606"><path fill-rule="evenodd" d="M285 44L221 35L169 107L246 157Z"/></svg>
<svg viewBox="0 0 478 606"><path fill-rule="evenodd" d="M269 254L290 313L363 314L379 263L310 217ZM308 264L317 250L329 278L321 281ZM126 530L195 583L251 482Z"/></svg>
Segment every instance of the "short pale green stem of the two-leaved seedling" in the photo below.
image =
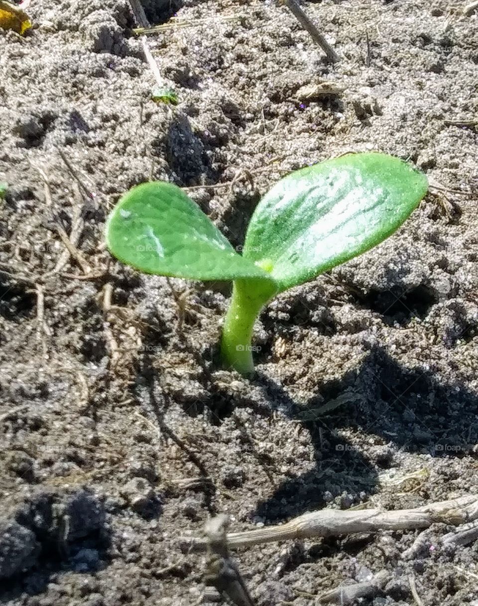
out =
<svg viewBox="0 0 478 606"><path fill-rule="evenodd" d="M236 280L222 328L221 358L241 375L254 372L251 339L259 312L276 292L266 280Z"/></svg>

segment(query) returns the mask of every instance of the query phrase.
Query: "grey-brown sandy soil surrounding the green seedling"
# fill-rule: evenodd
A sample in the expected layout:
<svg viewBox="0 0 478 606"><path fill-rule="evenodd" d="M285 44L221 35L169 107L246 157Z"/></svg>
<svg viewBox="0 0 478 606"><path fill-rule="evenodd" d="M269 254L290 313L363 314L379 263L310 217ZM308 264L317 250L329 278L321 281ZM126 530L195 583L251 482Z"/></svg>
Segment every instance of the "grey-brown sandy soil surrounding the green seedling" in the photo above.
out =
<svg viewBox="0 0 478 606"><path fill-rule="evenodd" d="M8 606L198 604L204 558L179 537L210 514L244 530L478 491L478 14L304 2L332 66L273 2L144 5L154 24L189 22L148 38L177 107L150 99L125 0L33 0L30 33L0 32ZM324 81L343 90L300 98ZM277 178L363 150L408 158L449 191L272 302L254 379L216 363L229 285L176 280L176 301L104 249L108 210L138 182L191 188L241 245ZM424 606L476 606L478 543L442 548L450 530L434 524L407 558L418 531L257 546L237 563L258 606L314 606L383 570L383 591L357 604L418 604L413 575Z"/></svg>

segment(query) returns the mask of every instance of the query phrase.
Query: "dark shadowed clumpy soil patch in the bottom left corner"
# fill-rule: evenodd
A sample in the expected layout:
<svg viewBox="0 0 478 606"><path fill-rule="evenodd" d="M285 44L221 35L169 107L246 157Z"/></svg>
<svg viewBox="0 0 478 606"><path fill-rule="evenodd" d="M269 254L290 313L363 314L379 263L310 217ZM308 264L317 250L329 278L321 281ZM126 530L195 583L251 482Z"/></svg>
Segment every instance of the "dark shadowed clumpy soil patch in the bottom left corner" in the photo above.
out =
<svg viewBox="0 0 478 606"><path fill-rule="evenodd" d="M0 579L2 604L43 593L60 572L91 574L109 561L104 504L87 490L41 491L0 524L8 525L1 547L10 556L2 567L7 577Z"/></svg>

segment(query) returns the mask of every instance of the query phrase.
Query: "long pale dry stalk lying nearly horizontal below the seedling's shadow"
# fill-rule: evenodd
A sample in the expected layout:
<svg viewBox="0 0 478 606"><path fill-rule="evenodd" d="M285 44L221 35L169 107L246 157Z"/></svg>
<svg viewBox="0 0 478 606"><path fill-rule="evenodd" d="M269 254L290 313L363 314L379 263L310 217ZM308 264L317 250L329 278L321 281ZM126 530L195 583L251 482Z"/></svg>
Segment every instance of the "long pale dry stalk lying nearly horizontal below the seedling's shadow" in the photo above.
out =
<svg viewBox="0 0 478 606"><path fill-rule="evenodd" d="M269 526L227 535L230 548L247 547L274 541L311 539L340 534L370 533L380 530L415 530L435 522L459 525L478 519L478 494L440 501L397 511L380 509L337 511L325 509L305 513L282 526ZM194 550L207 548L203 538L183 538Z"/></svg>

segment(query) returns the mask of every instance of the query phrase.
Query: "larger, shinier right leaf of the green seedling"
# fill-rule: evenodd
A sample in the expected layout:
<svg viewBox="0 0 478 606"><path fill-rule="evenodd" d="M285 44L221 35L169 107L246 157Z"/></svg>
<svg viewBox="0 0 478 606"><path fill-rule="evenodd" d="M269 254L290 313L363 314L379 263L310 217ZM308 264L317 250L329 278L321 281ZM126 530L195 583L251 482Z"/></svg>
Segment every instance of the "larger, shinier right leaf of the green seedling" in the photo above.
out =
<svg viewBox="0 0 478 606"><path fill-rule="evenodd" d="M244 258L286 290L360 255L402 225L428 189L406 162L348 154L281 179L251 218Z"/></svg>

